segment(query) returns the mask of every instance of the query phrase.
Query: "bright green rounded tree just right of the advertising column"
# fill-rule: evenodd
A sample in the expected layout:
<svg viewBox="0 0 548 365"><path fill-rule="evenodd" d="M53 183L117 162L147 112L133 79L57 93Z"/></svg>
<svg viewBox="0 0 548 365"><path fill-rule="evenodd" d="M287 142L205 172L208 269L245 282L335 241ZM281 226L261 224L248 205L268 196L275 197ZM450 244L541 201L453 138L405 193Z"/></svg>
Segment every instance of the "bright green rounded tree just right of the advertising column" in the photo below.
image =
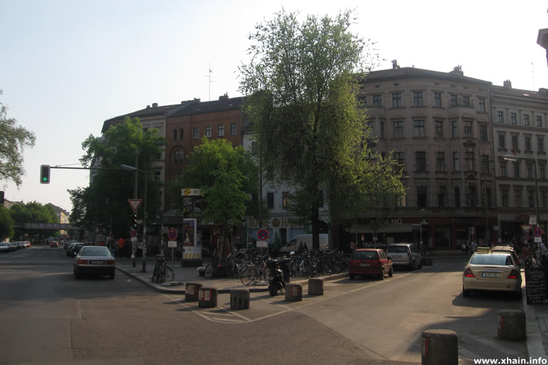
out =
<svg viewBox="0 0 548 365"><path fill-rule="evenodd" d="M233 147L225 139L210 140L205 136L188 155L188 162L184 184L201 188L203 221L218 225L219 247L232 227L243 221L247 203L257 192L257 167L242 146Z"/></svg>

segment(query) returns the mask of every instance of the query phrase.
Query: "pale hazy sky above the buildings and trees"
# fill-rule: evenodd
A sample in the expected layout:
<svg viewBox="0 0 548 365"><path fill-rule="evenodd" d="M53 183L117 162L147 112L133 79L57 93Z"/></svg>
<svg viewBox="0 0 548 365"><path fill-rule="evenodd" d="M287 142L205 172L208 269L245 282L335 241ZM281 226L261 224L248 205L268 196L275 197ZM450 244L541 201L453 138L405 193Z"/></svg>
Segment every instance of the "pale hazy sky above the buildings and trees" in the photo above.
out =
<svg viewBox="0 0 548 365"><path fill-rule="evenodd" d="M36 134L23 184L0 180L5 199L70 211L67 190L88 186L89 171L52 169L40 184L40 165L80 166L82 142L101 136L105 120L152 103L241 96L248 36L282 9L301 19L353 9L351 32L382 59L375 70L391 60L442 72L460 65L495 85L548 88L536 44L548 28L543 0L0 0L0 103Z"/></svg>

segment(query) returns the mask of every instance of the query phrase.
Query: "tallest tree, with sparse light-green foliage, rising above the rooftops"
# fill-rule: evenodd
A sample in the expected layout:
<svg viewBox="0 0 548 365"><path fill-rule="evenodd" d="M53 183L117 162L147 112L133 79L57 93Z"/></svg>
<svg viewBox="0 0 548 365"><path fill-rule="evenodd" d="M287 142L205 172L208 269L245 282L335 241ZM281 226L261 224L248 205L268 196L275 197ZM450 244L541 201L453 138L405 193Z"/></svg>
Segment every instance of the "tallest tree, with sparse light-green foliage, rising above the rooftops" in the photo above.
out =
<svg viewBox="0 0 548 365"><path fill-rule="evenodd" d="M282 11L257 26L249 37L251 61L240 66L240 90L249 95L243 109L262 170L295 188L292 211L311 223L317 248L323 191L332 216L340 216L352 195L364 200L371 192L362 175L382 168L367 146L365 110L356 103L369 45L349 31L352 12L303 23L298 16Z"/></svg>

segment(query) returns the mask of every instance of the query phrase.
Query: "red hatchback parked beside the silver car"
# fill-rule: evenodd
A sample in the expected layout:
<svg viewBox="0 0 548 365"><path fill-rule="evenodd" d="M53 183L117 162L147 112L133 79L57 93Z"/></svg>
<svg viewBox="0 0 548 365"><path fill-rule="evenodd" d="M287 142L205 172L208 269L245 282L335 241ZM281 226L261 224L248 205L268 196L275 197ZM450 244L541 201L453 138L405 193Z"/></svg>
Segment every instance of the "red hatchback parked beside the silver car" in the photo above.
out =
<svg viewBox="0 0 548 365"><path fill-rule="evenodd" d="M356 275L376 275L383 280L384 275L392 277L394 268L392 260L382 249L358 249L350 257L349 278Z"/></svg>

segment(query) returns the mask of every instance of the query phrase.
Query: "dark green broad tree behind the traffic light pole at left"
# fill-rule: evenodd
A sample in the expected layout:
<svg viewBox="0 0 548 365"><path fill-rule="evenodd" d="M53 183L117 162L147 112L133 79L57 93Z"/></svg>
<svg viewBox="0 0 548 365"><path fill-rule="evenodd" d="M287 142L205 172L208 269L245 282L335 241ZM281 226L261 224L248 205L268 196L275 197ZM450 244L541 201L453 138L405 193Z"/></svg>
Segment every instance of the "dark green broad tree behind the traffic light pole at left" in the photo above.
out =
<svg viewBox="0 0 548 365"><path fill-rule="evenodd" d="M73 202L71 222L88 228L110 227L114 236L127 235L133 213L127 199L145 197L145 179L148 179L148 217L153 217L160 206L161 183L154 179L152 163L160 158L165 145L166 139L160 136L158 129L143 131L139 118L126 117L123 123L112 125L101 137L90 135L82 143L86 153L80 161L84 166L97 169L92 171L90 186L69 190ZM145 171L138 173L137 197L134 197L135 175L123 170L122 164Z"/></svg>

